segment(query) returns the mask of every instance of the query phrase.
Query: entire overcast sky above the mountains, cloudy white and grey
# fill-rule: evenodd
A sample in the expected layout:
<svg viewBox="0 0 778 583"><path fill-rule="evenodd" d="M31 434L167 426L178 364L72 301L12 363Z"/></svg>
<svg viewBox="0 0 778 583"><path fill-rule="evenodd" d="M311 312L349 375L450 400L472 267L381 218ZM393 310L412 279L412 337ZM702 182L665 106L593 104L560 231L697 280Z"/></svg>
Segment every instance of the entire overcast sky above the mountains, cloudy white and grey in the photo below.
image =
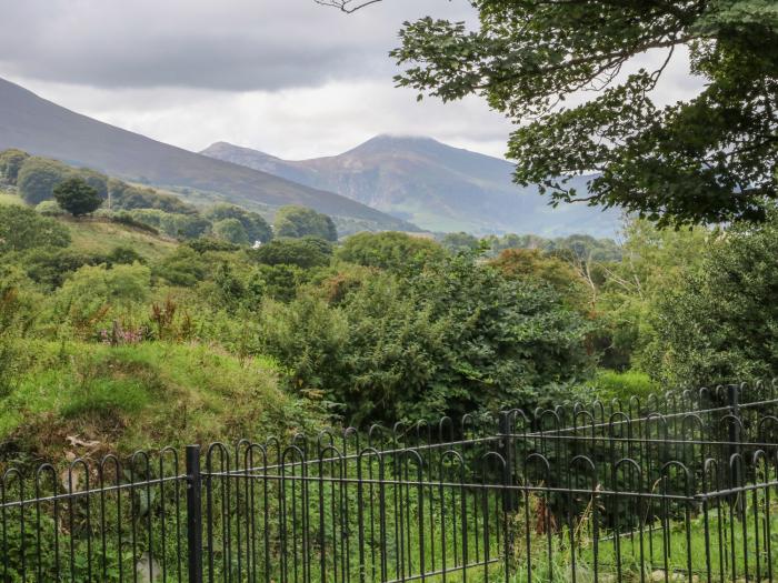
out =
<svg viewBox="0 0 778 583"><path fill-rule="evenodd" d="M393 87L387 52L403 20L427 14L473 17L467 0L386 0L350 16L313 0L9 0L0 77L196 151L223 140L302 159L399 133L501 155L511 125L477 98L417 103ZM698 87L680 58L664 100Z"/></svg>

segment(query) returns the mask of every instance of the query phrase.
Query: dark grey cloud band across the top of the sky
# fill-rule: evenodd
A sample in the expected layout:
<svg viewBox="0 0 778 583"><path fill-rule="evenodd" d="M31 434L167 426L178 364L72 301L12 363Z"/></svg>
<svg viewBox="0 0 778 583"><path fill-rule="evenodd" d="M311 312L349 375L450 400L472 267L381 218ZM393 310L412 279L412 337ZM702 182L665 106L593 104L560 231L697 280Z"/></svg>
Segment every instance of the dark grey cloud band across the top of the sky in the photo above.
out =
<svg viewBox="0 0 778 583"><path fill-rule="evenodd" d="M387 0L351 16L313 0L26 0L0 21L0 76L101 88L226 91L389 80L406 19L467 19L466 0Z"/></svg>

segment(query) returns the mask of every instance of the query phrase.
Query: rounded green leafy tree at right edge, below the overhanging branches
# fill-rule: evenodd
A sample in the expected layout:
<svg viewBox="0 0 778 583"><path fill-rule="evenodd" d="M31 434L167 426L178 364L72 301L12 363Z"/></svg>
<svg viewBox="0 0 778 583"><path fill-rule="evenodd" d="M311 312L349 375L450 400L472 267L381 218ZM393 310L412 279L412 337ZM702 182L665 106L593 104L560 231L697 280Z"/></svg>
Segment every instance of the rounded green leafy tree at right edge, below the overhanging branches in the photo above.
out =
<svg viewBox="0 0 778 583"><path fill-rule="evenodd" d="M778 211L760 229L714 232L700 269L660 294L647 370L674 385L716 385L778 370Z"/></svg>

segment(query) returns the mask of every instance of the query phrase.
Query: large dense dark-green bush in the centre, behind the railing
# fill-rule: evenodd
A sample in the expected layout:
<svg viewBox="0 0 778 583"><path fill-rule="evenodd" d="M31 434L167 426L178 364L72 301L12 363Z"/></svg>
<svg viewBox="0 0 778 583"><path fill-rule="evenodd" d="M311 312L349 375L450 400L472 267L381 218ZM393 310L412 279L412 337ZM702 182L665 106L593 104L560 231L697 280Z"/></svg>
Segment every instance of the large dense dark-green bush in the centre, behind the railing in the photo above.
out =
<svg viewBox="0 0 778 583"><path fill-rule="evenodd" d="M532 406L591 365L587 321L548 284L462 255L408 279L376 272L337 305L302 294L263 312L262 345L349 420Z"/></svg>

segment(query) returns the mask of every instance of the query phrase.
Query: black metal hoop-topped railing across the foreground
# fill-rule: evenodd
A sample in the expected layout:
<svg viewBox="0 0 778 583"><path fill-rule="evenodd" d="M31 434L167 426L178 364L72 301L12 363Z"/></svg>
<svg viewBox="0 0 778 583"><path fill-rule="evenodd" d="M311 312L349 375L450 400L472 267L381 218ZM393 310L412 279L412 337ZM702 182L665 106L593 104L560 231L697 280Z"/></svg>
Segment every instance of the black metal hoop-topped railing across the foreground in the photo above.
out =
<svg viewBox="0 0 778 583"><path fill-rule="evenodd" d="M776 489L764 383L167 448L7 469L0 581L772 581Z"/></svg>

